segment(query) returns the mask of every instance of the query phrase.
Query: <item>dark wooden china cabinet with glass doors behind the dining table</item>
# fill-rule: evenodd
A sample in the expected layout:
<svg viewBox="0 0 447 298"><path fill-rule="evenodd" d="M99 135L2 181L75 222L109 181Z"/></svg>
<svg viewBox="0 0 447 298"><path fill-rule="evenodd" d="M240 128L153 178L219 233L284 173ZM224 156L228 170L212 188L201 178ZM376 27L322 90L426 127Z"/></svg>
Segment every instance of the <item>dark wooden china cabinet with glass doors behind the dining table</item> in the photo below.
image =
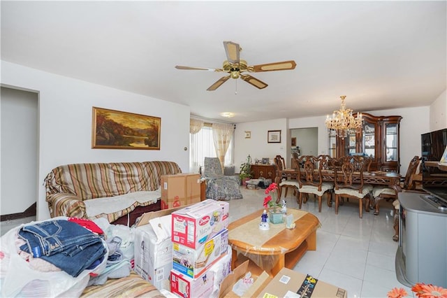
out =
<svg viewBox="0 0 447 298"><path fill-rule="evenodd" d="M329 131L328 152L331 157L362 153L372 157L371 171L400 169L399 126L401 116L374 116L362 113L362 129L344 139Z"/></svg>

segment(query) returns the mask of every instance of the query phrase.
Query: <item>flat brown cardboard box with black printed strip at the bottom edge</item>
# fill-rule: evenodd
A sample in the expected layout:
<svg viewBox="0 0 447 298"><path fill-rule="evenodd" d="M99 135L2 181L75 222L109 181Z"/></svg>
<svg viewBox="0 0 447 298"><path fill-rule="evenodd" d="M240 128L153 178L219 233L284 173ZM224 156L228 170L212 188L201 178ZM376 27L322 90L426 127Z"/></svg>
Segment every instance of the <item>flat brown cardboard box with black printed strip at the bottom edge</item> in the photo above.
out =
<svg viewBox="0 0 447 298"><path fill-rule="evenodd" d="M305 291L305 292L303 292ZM286 297L286 295L298 293L296 297L339 297L346 298L346 290L330 285L324 281L318 281L312 276L301 274L291 269L283 268L262 290L258 297ZM294 297L288 295L288 297Z"/></svg>

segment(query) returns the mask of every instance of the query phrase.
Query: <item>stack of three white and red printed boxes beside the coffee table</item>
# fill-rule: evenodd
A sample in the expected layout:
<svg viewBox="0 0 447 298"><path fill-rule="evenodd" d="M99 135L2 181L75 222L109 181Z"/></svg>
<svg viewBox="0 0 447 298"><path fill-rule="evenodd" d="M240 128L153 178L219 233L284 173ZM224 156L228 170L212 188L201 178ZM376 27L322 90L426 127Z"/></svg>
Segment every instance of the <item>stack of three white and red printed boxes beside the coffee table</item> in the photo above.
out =
<svg viewBox="0 0 447 298"><path fill-rule="evenodd" d="M229 205L207 199L172 213L170 290L180 297L210 297L214 271L227 254Z"/></svg>

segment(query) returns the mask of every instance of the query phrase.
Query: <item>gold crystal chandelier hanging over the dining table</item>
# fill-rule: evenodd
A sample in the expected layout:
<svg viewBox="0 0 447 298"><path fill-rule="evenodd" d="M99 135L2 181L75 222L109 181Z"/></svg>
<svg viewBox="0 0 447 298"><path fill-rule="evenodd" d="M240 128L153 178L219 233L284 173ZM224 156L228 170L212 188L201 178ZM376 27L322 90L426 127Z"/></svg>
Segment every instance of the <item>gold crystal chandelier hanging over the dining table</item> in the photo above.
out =
<svg viewBox="0 0 447 298"><path fill-rule="evenodd" d="M335 134L344 139L348 133L354 133L362 127L362 113L358 113L357 117L352 115L351 108L346 108L344 104L345 95L340 97L342 105L338 111L334 111L332 118L326 117L325 125L328 129L334 129Z"/></svg>

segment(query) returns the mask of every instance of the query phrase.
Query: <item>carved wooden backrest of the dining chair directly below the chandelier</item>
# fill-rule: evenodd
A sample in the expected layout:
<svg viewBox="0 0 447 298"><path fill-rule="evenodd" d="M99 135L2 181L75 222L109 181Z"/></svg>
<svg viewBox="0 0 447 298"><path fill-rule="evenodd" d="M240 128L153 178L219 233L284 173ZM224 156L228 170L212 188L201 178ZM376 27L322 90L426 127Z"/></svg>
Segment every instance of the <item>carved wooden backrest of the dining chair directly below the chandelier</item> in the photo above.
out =
<svg viewBox="0 0 447 298"><path fill-rule="evenodd" d="M338 159L331 159L334 170L335 189L351 188L362 192L363 171L366 160L361 156L342 156Z"/></svg>

